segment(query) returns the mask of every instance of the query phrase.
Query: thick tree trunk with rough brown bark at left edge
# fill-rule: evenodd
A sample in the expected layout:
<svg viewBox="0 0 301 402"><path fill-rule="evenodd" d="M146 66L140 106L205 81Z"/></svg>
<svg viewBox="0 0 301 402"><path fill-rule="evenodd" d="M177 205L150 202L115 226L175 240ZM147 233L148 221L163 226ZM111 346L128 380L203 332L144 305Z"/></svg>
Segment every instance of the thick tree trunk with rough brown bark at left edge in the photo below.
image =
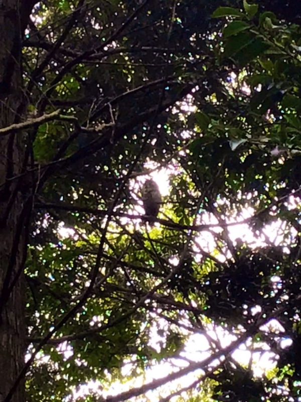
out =
<svg viewBox="0 0 301 402"><path fill-rule="evenodd" d="M22 88L22 39L34 6L30 0L0 1L0 127L19 122L26 110ZM31 202L21 179L27 152L25 134L0 137L0 400L24 364L24 278L26 233ZM28 189L27 189L28 190ZM14 402L24 402L24 383L15 389Z"/></svg>

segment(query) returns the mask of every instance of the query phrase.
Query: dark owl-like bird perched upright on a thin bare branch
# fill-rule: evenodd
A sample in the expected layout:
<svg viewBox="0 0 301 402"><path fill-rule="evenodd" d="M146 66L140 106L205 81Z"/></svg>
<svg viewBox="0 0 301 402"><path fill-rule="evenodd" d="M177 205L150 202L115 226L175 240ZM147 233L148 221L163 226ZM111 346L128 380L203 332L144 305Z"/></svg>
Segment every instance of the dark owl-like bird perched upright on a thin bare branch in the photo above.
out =
<svg viewBox="0 0 301 402"><path fill-rule="evenodd" d="M146 180L141 193L147 221L150 224L153 224L158 215L161 204L161 194L158 184L154 180Z"/></svg>

